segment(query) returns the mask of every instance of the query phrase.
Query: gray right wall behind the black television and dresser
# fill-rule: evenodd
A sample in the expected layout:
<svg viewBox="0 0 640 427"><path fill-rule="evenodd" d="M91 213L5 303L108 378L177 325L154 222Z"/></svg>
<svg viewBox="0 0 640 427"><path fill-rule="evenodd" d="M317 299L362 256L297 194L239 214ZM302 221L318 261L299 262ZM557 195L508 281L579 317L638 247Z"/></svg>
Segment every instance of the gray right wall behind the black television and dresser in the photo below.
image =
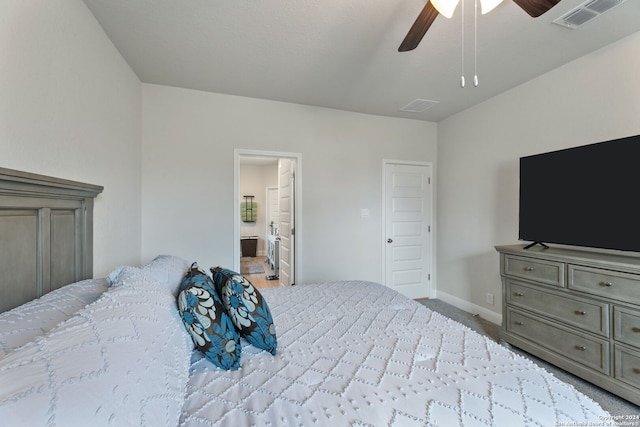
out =
<svg viewBox="0 0 640 427"><path fill-rule="evenodd" d="M499 319L493 247L517 243L519 158L640 134L638 52L640 33L438 123L440 298Z"/></svg>

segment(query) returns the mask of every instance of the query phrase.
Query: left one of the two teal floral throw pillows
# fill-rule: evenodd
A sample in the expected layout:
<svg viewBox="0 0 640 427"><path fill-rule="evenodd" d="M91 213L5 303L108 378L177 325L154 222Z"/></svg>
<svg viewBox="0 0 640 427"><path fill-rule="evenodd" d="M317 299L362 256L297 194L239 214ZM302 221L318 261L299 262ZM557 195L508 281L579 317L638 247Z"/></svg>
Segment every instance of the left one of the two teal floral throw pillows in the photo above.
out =
<svg viewBox="0 0 640 427"><path fill-rule="evenodd" d="M178 310L196 348L225 370L240 367L240 336L211 278L193 263L180 284Z"/></svg>

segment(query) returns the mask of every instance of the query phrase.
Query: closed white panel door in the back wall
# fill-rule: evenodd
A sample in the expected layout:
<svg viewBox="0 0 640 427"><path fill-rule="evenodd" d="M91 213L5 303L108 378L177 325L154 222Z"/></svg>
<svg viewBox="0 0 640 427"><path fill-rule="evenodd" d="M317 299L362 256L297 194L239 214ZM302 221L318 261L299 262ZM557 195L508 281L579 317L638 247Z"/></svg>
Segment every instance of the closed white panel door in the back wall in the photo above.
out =
<svg viewBox="0 0 640 427"><path fill-rule="evenodd" d="M385 284L409 298L431 292L431 167L385 164Z"/></svg>

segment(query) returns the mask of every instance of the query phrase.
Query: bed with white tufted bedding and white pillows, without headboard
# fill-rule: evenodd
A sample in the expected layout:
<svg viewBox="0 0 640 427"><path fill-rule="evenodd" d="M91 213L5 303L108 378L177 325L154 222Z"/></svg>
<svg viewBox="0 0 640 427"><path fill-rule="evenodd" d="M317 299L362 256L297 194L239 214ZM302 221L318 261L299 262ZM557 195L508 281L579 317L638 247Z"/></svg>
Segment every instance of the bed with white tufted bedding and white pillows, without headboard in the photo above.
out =
<svg viewBox="0 0 640 427"><path fill-rule="evenodd" d="M160 255L1 313L3 424L558 426L610 419L531 361L372 282L261 289L277 351L242 339L239 369L223 370L194 347L177 308L192 261Z"/></svg>

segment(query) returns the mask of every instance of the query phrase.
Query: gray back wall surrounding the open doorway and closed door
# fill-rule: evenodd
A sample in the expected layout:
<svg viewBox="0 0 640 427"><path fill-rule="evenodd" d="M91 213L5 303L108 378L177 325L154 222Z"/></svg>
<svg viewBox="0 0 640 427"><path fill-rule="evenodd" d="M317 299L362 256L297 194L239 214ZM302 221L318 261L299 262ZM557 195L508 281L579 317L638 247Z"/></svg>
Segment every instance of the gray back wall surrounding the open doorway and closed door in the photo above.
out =
<svg viewBox="0 0 640 427"><path fill-rule="evenodd" d="M143 259L233 266L234 149L302 155L299 281L382 281L382 161L435 161L435 123L143 85ZM360 217L368 208L370 216Z"/></svg>

